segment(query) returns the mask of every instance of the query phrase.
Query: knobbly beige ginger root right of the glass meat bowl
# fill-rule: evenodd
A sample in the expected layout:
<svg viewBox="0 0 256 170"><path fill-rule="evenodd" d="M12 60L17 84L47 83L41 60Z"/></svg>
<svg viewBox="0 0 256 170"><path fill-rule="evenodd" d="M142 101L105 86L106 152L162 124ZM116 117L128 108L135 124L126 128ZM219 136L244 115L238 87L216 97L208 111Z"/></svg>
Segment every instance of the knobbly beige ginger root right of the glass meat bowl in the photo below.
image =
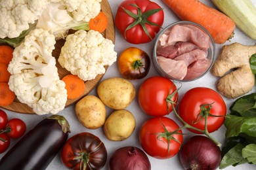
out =
<svg viewBox="0 0 256 170"><path fill-rule="evenodd" d="M214 76L222 76L217 90L228 98L236 98L250 92L255 85L255 75L251 72L249 58L256 53L253 46L233 43L224 45L219 57L211 68Z"/></svg>

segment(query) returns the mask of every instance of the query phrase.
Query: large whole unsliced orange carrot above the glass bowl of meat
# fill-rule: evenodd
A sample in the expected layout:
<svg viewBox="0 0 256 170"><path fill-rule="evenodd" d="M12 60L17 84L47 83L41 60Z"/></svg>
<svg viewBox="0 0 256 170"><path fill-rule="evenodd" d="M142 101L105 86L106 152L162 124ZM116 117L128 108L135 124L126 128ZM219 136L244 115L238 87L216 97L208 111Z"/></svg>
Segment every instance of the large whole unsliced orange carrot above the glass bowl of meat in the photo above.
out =
<svg viewBox="0 0 256 170"><path fill-rule="evenodd" d="M198 0L162 0L181 20L195 22L209 31L217 44L232 38L236 24L219 10Z"/></svg>

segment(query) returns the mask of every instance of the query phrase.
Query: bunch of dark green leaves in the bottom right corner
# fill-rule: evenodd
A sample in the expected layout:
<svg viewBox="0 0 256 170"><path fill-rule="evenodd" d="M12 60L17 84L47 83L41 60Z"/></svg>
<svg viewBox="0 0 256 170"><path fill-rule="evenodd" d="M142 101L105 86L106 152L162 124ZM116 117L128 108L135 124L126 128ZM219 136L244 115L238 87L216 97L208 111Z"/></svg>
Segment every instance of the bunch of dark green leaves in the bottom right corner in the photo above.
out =
<svg viewBox="0 0 256 170"><path fill-rule="evenodd" d="M232 103L224 126L226 141L219 168L243 163L256 165L256 93L244 95Z"/></svg>

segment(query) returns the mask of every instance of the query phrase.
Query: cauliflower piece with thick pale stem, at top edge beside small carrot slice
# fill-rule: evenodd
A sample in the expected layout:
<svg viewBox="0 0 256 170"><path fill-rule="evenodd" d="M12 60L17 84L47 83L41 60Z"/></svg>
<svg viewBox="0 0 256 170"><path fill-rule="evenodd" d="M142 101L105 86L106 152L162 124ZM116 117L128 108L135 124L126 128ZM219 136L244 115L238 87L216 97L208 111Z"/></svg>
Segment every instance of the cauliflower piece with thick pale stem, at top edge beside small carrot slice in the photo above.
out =
<svg viewBox="0 0 256 170"><path fill-rule="evenodd" d="M100 12L101 0L49 0L37 22L37 28L63 39L69 29L89 29L88 22Z"/></svg>

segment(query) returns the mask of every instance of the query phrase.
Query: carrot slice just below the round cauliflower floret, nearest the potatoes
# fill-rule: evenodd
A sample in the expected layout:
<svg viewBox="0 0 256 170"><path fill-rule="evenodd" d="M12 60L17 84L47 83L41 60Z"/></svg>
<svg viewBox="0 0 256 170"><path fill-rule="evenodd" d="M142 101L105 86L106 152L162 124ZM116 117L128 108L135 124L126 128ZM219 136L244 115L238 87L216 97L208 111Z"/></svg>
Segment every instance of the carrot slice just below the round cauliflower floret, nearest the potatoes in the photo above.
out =
<svg viewBox="0 0 256 170"><path fill-rule="evenodd" d="M62 78L65 82L68 99L76 99L85 92L85 82L77 75L66 75Z"/></svg>

